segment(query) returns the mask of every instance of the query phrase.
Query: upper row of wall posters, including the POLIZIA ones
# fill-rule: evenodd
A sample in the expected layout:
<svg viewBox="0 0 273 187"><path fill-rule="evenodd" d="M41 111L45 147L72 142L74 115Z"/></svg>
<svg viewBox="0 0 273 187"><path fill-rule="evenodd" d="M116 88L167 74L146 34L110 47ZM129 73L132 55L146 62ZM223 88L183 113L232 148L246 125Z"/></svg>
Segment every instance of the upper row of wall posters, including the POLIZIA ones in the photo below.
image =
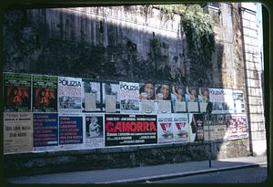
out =
<svg viewBox="0 0 273 187"><path fill-rule="evenodd" d="M5 112L244 113L242 90L4 73Z"/></svg>

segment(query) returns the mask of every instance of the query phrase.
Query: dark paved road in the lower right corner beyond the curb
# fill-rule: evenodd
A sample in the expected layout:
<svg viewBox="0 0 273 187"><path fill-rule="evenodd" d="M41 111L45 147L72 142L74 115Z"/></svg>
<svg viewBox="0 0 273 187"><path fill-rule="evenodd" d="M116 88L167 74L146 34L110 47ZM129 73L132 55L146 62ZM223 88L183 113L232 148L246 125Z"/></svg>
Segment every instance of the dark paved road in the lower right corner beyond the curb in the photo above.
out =
<svg viewBox="0 0 273 187"><path fill-rule="evenodd" d="M231 171L217 171L151 183L254 183L267 180L266 165Z"/></svg>

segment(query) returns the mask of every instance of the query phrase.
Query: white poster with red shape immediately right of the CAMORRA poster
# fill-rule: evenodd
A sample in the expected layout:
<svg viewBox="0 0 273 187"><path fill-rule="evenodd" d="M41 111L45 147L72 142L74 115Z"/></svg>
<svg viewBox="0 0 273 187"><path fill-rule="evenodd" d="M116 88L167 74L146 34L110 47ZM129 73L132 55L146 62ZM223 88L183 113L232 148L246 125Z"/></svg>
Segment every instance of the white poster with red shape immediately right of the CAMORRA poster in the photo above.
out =
<svg viewBox="0 0 273 187"><path fill-rule="evenodd" d="M157 115L158 143L174 141L173 118L172 115Z"/></svg>

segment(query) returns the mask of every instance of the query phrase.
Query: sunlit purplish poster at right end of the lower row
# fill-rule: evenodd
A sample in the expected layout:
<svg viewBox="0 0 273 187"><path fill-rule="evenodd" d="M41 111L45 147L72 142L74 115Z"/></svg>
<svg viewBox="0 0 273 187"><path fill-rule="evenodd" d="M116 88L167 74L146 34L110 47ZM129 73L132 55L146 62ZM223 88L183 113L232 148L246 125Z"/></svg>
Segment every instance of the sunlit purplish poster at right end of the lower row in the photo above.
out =
<svg viewBox="0 0 273 187"><path fill-rule="evenodd" d="M245 114L227 114L227 140L248 138L248 122Z"/></svg>

